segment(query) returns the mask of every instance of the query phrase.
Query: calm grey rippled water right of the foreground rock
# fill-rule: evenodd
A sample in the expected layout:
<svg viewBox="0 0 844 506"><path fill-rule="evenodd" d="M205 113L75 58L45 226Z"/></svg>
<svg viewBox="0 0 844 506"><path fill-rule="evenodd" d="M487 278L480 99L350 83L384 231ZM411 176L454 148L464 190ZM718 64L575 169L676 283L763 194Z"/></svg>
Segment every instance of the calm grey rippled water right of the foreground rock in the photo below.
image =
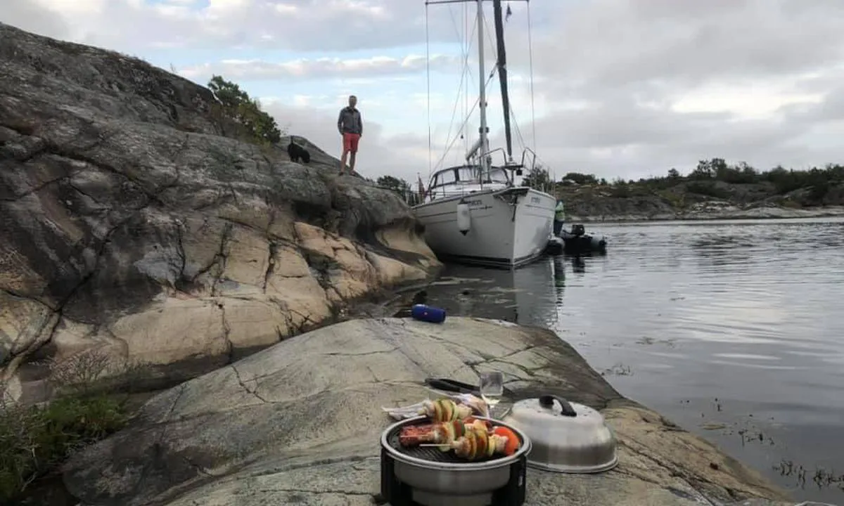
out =
<svg viewBox="0 0 844 506"><path fill-rule="evenodd" d="M844 474L844 220L587 230L608 237L607 256L449 266L428 303L547 326L622 394L794 498L844 504L844 482L814 482Z"/></svg>

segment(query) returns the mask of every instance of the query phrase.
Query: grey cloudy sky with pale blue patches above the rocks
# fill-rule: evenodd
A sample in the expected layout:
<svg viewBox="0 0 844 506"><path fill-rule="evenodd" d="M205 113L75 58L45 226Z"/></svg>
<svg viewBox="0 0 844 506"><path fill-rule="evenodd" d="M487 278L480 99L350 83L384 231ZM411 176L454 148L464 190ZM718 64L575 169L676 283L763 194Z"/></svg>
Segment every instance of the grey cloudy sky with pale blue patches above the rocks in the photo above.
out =
<svg viewBox="0 0 844 506"><path fill-rule="evenodd" d="M685 172L711 157L764 169L844 162L842 0L510 4L514 151L535 147L558 178ZM490 35L491 4L485 13ZM222 74L329 153L340 149L338 110L357 94L357 169L415 180L457 162L478 127L475 111L459 138L479 86L475 8L431 5L429 151L425 14L425 0L3 0L0 20L197 83ZM490 37L485 46L491 63ZM488 89L495 148L497 78Z"/></svg>

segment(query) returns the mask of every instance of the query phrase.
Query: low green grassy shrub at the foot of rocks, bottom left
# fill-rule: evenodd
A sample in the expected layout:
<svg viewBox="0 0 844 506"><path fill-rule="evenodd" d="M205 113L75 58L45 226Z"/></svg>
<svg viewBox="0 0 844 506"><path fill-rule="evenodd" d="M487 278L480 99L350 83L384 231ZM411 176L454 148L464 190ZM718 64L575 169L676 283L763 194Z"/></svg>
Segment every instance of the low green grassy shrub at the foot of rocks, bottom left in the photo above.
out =
<svg viewBox="0 0 844 506"><path fill-rule="evenodd" d="M84 353L51 368L54 379L67 383L46 405L0 402L0 504L21 500L30 483L55 471L75 450L126 425L125 399L92 387L105 372L92 369L97 363L107 362ZM0 400L4 394L0 388Z"/></svg>

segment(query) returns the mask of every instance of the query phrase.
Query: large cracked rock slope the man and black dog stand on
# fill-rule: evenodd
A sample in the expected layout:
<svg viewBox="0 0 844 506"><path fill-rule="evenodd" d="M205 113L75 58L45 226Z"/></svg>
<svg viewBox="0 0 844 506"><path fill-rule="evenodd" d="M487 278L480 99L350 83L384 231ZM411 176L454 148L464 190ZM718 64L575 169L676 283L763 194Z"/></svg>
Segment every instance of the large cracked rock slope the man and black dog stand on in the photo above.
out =
<svg viewBox="0 0 844 506"><path fill-rule="evenodd" d="M0 380L14 396L43 393L28 363L91 347L117 368L221 365L438 268L395 193L338 179L310 144L304 166L225 137L214 104L138 59L0 24Z"/></svg>

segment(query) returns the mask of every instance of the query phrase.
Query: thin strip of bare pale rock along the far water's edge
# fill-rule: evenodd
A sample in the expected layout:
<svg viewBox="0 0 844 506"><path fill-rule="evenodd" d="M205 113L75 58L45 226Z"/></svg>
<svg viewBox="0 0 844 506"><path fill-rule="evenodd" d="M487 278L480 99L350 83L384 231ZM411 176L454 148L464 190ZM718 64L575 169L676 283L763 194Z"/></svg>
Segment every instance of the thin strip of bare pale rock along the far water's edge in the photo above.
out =
<svg viewBox="0 0 844 506"><path fill-rule="evenodd" d="M657 221L705 221L730 219L794 219L794 218L839 218L844 217L844 206L811 207L793 209L790 207L766 206L742 209L732 205L702 207L679 213L656 214L605 214L603 216L576 216L565 218L566 223L638 223Z"/></svg>

